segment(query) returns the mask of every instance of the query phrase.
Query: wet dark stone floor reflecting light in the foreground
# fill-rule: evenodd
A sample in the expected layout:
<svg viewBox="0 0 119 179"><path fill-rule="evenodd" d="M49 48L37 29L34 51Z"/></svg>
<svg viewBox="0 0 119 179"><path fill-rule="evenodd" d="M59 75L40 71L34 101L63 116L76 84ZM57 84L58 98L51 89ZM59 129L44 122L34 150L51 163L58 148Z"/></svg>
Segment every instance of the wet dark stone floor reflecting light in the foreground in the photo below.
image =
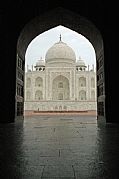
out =
<svg viewBox="0 0 119 179"><path fill-rule="evenodd" d="M119 126L94 116L0 124L0 179L119 179Z"/></svg>

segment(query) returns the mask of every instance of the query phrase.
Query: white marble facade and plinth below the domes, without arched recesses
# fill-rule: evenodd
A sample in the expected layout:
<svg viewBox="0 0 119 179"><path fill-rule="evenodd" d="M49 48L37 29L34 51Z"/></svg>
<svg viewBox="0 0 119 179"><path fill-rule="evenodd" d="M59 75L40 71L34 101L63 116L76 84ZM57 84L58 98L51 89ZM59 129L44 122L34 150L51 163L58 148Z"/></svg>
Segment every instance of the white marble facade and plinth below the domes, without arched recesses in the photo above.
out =
<svg viewBox="0 0 119 179"><path fill-rule="evenodd" d="M52 101L52 83L53 80L62 75L69 80L70 100L68 101ZM35 86L35 80L41 77L43 80L42 86ZM79 78L86 78L86 86L79 85ZM91 87L91 78L95 80L95 87ZM31 87L26 87L26 79L31 79ZM67 110L96 110L96 75L93 71L76 71L76 67L47 67L45 71L31 71L25 75L25 110L59 110L67 106ZM35 93L37 90L42 91L43 100L36 101ZM79 101L79 91L86 91L86 100ZM26 92L29 91L31 97L26 99ZM95 98L91 99L91 91L95 91ZM58 109L55 109L57 106Z"/></svg>

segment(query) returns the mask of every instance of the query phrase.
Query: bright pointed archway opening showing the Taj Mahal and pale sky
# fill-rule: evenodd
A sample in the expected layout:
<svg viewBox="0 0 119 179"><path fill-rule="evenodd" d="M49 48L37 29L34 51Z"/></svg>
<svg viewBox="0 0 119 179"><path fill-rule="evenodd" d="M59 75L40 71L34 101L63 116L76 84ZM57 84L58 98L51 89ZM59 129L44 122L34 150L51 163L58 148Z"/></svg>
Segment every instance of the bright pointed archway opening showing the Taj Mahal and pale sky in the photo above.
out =
<svg viewBox="0 0 119 179"><path fill-rule="evenodd" d="M96 117L96 57L88 39L60 25L33 39L25 58L25 83L31 80L30 88L25 85L25 96L31 92L25 116L62 111ZM36 98L39 90L42 97Z"/></svg>

